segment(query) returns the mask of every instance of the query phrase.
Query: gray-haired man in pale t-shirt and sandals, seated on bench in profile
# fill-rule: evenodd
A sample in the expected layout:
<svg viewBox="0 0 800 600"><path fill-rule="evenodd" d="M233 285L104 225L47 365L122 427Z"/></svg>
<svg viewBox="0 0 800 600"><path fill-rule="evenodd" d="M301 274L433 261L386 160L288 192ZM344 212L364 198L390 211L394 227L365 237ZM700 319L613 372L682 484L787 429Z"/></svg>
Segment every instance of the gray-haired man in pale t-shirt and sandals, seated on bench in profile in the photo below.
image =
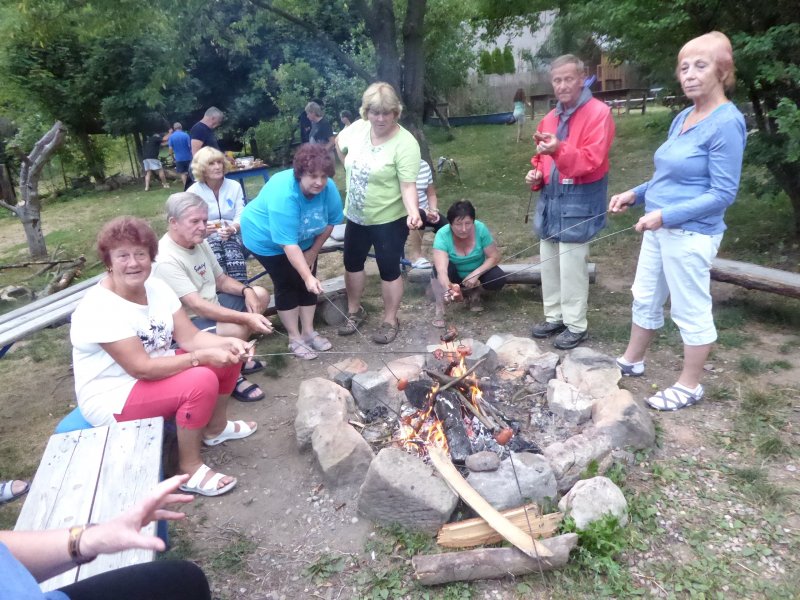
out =
<svg viewBox="0 0 800 600"><path fill-rule="evenodd" d="M165 281L181 299L192 322L202 330L247 340L255 333L272 333L264 316L269 292L229 277L206 243L208 206L196 194L180 192L167 199L167 233L158 243L153 275ZM242 368L263 368L251 359ZM240 378L233 397L242 402L264 398L258 386Z"/></svg>

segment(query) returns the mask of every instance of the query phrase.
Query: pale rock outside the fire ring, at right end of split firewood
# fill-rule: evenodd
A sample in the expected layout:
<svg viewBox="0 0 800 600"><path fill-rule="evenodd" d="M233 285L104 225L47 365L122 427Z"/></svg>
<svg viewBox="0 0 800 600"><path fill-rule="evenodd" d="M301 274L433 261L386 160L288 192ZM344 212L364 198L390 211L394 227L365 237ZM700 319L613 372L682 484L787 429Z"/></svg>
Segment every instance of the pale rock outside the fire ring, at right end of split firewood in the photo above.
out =
<svg viewBox="0 0 800 600"><path fill-rule="evenodd" d="M628 523L628 503L622 491L607 477L592 477L576 483L558 503L558 510L575 519L578 529L603 515L615 515L621 525Z"/></svg>

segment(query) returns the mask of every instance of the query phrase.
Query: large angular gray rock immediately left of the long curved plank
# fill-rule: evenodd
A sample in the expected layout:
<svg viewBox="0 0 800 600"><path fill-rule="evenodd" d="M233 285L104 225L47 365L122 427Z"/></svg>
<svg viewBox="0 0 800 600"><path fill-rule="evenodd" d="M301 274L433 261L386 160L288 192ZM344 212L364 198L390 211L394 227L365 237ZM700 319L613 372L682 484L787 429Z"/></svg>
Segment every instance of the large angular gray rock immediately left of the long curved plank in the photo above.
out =
<svg viewBox="0 0 800 600"><path fill-rule="evenodd" d="M373 521L435 533L450 519L457 502L458 496L421 458L384 448L361 485L358 510Z"/></svg>

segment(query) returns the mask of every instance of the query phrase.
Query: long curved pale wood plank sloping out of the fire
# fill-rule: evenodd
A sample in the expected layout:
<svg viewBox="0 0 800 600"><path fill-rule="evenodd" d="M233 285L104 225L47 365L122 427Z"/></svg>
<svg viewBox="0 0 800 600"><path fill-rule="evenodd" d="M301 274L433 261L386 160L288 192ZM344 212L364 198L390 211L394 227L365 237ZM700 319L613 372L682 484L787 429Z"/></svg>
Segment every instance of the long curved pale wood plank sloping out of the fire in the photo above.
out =
<svg viewBox="0 0 800 600"><path fill-rule="evenodd" d="M486 519L492 529L531 558L549 558L552 556L552 552L546 546L531 538L529 534L501 515L483 496L476 492L453 466L453 463L441 448L429 444L427 450L433 466L444 477L444 480L461 496L464 502Z"/></svg>

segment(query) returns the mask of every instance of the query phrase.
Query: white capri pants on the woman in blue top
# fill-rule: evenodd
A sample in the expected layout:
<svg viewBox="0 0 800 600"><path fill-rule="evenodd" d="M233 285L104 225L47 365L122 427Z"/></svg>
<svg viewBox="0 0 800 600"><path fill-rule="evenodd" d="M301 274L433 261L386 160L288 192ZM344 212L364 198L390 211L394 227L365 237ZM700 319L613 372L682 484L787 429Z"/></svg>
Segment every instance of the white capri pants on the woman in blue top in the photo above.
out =
<svg viewBox="0 0 800 600"><path fill-rule="evenodd" d="M664 304L687 346L717 339L711 314L711 261L722 234L684 229L645 231L633 282L633 322L644 329L664 326Z"/></svg>

